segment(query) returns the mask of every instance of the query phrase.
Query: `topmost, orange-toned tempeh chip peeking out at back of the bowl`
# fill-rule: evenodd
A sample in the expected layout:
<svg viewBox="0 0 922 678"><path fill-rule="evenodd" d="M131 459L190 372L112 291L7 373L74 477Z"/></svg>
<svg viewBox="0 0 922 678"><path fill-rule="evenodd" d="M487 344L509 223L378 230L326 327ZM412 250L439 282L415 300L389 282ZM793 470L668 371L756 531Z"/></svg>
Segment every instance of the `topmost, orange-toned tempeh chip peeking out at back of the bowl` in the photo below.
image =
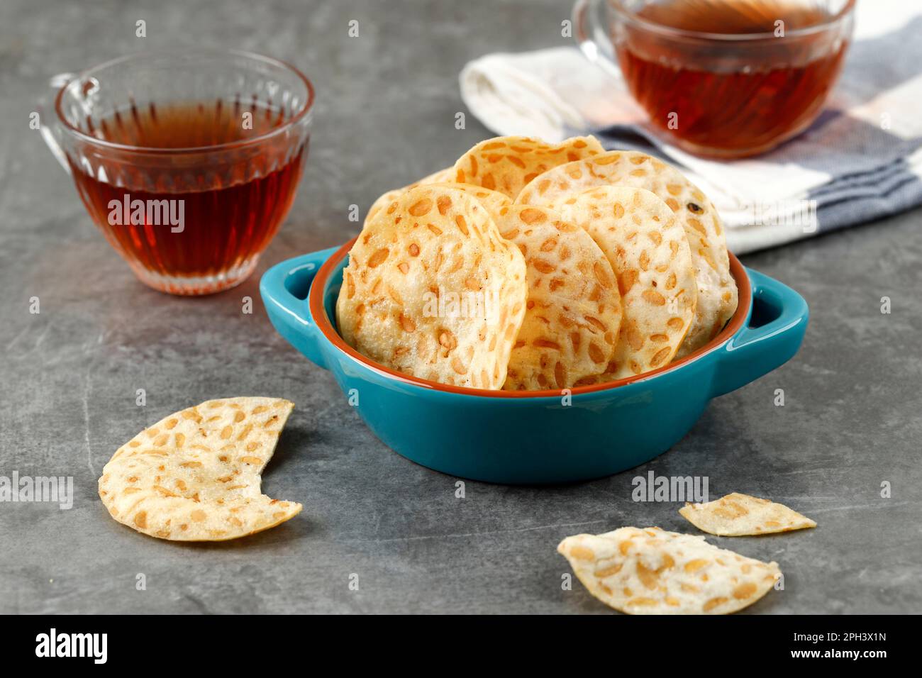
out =
<svg viewBox="0 0 922 678"><path fill-rule="evenodd" d="M538 174L604 152L596 137L571 137L556 145L530 137L493 137L458 158L455 181L477 184L514 199Z"/></svg>

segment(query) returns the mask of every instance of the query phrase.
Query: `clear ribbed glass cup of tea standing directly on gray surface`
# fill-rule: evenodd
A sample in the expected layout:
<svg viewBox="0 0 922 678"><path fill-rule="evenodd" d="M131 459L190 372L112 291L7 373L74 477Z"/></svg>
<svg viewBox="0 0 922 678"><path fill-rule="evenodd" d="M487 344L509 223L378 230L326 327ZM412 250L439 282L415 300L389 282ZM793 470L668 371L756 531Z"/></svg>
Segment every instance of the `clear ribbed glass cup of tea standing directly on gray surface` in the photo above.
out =
<svg viewBox="0 0 922 678"><path fill-rule="evenodd" d="M266 56L187 49L52 84L42 136L137 278L173 294L245 280L294 201L310 80Z"/></svg>

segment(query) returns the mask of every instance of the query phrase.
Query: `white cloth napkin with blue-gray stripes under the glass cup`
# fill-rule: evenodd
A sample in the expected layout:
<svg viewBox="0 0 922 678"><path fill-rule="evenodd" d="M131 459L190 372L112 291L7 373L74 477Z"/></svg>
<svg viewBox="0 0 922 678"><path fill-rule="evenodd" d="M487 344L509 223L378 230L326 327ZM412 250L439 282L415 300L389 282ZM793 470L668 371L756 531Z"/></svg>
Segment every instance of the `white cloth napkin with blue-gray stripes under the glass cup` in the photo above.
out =
<svg viewBox="0 0 922 678"><path fill-rule="evenodd" d="M859 3L855 42L826 110L753 159L711 161L659 141L621 80L575 47L468 63L461 96L500 135L593 133L681 167L714 201L738 254L922 204L922 2Z"/></svg>

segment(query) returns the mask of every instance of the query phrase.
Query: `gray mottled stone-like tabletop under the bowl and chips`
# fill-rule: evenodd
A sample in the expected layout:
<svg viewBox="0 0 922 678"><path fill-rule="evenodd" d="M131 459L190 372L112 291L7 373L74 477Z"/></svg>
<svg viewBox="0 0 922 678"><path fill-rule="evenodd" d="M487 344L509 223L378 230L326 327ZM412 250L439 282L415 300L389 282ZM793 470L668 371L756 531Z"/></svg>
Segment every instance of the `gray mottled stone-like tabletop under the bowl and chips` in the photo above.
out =
<svg viewBox="0 0 922 678"><path fill-rule="evenodd" d="M804 347L715 400L667 455L566 487L467 482L456 499L455 478L384 447L330 375L278 337L258 274L344 242L356 232L350 203L366 208L487 136L470 117L467 130L454 128L459 68L560 42L567 3L150 6L0 6L0 475L72 475L77 494L69 511L0 504L0 612L605 612L579 585L561 590L568 567L554 547L621 525L694 531L677 505L632 503L631 479L648 470L707 475L712 496L767 496L820 523L713 540L786 573L786 590L751 612L922 608L922 212L745 257L807 298ZM137 18L148 21L146 41L134 37ZM351 18L359 39L347 37ZM297 202L257 274L192 300L136 282L27 124L45 77L183 42L278 55L319 92ZM28 312L33 295L40 315ZM254 315L241 314L244 295ZM892 315L881 315L884 295ZM142 387L148 404L137 407ZM264 488L301 501L301 516L216 545L155 541L107 516L96 480L117 446L171 411L239 394L296 403ZM891 499L880 497L884 481Z"/></svg>

